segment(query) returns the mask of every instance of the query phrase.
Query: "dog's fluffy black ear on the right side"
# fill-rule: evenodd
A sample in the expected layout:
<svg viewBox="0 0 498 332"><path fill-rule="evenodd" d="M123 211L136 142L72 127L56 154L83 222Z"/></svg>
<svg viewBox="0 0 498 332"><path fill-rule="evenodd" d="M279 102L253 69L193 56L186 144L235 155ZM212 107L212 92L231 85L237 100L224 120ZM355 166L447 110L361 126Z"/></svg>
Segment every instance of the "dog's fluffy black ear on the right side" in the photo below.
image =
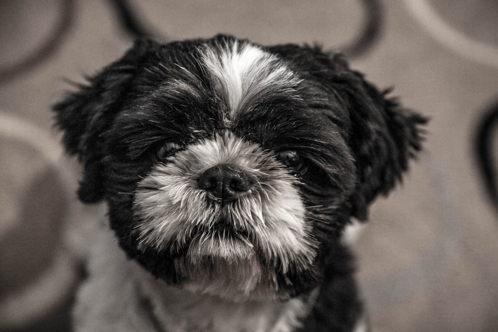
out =
<svg viewBox="0 0 498 332"><path fill-rule="evenodd" d="M352 71L340 54L293 44L268 50L312 79L333 100L333 107L319 111L336 122L351 146L358 180L348 205L351 216L365 220L369 204L392 189L408 168L408 160L421 149L426 118L400 107L388 98L389 91L377 90L361 73ZM320 104L320 98L320 92L315 92L311 99Z"/></svg>

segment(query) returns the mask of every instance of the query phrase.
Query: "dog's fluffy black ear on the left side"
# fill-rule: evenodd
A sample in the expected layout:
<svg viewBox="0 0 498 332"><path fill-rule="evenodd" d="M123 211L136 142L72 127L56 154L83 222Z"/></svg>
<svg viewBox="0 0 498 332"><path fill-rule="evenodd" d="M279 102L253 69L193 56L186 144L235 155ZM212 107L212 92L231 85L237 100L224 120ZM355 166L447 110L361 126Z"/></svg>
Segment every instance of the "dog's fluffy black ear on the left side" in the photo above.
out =
<svg viewBox="0 0 498 332"><path fill-rule="evenodd" d="M78 196L85 203L96 203L104 197L101 134L126 99L146 55L156 46L149 40L136 41L120 60L89 78L88 85L79 85L77 92L53 107L56 124L64 132L67 152L77 155L83 164Z"/></svg>

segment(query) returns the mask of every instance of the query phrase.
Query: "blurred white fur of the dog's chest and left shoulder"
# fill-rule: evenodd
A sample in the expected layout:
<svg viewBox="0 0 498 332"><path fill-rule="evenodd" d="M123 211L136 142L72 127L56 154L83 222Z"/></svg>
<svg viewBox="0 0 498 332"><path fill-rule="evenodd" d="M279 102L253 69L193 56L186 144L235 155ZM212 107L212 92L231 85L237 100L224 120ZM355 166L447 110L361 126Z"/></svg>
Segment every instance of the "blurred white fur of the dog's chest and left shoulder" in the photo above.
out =
<svg viewBox="0 0 498 332"><path fill-rule="evenodd" d="M107 226L89 235L89 278L74 311L77 331L158 331L158 323L159 331L175 332L292 331L315 301L316 294L284 302L232 302L167 286L128 260ZM146 312L143 299L152 312Z"/></svg>

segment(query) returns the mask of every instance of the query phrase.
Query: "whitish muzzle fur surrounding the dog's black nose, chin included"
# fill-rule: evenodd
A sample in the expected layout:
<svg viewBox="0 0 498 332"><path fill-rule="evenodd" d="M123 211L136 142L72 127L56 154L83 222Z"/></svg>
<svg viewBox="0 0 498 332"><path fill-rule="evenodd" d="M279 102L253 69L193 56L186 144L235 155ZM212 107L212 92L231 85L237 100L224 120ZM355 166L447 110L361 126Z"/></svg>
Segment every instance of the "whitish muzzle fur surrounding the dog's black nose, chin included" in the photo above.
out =
<svg viewBox="0 0 498 332"><path fill-rule="evenodd" d="M214 203L199 188L198 178L217 164L237 166L257 181L247 195L232 204ZM251 238L194 235L187 257L192 278L215 293L247 296L263 291L267 296L268 291L275 292L275 275L261 266L256 252L267 261L281 261L284 273L291 265L309 267L316 255L296 181L271 153L229 131L202 140L158 165L138 184L134 202L141 220L136 226L138 246L174 251L187 243L196 226L210 228L223 217ZM207 256L220 264L219 275L213 276L219 280L199 270Z"/></svg>

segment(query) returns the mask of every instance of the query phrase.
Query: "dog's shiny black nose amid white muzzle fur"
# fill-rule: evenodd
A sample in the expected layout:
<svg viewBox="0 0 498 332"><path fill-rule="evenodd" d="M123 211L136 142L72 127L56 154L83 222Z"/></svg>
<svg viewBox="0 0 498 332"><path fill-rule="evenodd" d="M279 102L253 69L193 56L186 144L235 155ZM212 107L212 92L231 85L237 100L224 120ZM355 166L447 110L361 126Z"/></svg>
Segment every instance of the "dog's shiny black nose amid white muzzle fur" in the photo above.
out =
<svg viewBox="0 0 498 332"><path fill-rule="evenodd" d="M246 194L252 181L239 167L220 164L208 168L199 177L199 188L208 192L208 197L217 202L234 201Z"/></svg>

